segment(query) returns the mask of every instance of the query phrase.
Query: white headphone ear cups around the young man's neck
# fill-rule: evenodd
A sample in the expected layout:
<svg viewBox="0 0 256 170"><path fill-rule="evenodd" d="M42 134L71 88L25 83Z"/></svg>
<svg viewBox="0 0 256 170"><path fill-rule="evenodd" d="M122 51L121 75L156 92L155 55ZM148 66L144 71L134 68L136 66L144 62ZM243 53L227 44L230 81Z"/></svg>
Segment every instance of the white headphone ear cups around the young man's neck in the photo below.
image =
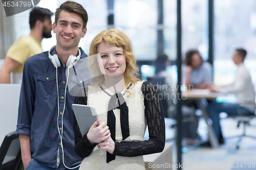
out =
<svg viewBox="0 0 256 170"><path fill-rule="evenodd" d="M52 51L54 50L56 45L54 45L53 47L51 47L51 49L49 50L49 59L51 60L51 62L53 63L54 67L60 67L61 64L60 64L60 61L59 61L59 58L57 56L57 54L54 54L53 56L51 55ZM69 59L67 61L67 64L66 66L67 67L70 67L70 66L73 66L75 65L75 63L80 59L81 57L81 51L80 49L78 48L78 56L73 56L73 55L70 55L69 56Z"/></svg>

